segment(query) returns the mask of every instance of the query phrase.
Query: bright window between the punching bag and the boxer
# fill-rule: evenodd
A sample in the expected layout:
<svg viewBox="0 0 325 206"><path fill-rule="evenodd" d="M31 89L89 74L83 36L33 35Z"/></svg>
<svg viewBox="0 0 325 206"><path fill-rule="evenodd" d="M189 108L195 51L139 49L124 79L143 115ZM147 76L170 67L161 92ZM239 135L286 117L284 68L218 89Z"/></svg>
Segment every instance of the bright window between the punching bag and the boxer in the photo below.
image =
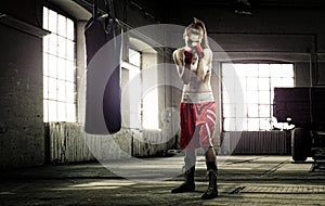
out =
<svg viewBox="0 0 325 206"><path fill-rule="evenodd" d="M145 64L147 67L142 67L143 61L150 61ZM123 95L122 103L123 110L128 111L127 116L123 116L127 127L159 128L157 72L148 66L152 64L156 64L156 54L142 54L129 49L129 62L121 65L123 93L128 95Z"/></svg>

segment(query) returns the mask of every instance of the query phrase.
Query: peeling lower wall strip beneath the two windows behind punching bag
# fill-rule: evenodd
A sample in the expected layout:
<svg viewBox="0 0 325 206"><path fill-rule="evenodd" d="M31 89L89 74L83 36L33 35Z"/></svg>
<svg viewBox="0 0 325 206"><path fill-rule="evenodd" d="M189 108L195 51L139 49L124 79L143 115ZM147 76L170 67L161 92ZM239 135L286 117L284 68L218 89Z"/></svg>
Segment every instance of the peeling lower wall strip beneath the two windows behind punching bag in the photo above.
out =
<svg viewBox="0 0 325 206"><path fill-rule="evenodd" d="M52 164L162 156L174 144L173 139L164 139L159 130L122 128L113 136L93 136L86 134L78 124L51 123L49 127Z"/></svg>

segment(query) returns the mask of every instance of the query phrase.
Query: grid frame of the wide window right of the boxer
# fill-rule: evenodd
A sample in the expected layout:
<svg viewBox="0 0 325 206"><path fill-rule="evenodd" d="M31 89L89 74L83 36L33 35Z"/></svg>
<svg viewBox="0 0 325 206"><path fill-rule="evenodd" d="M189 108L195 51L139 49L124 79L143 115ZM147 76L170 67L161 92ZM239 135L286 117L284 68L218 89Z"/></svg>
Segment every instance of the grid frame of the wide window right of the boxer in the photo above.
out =
<svg viewBox="0 0 325 206"><path fill-rule="evenodd" d="M251 72L251 76L247 75L247 72L244 72L245 75L243 75L244 73L236 74L234 72L231 72L231 73L236 74L236 78L238 78L236 80L240 80L242 81L240 77L245 78L245 83L244 83L245 87L246 87L245 88L245 93L244 93L244 95L242 93L243 101L244 101L244 103L243 103L243 111L240 111L240 108L239 108L239 112L242 112L240 114L244 114L242 117L237 116L238 115L237 114L238 110L236 111L236 107L237 107L236 105L239 105L239 103L229 102L230 100L226 100L226 98L229 98L227 95L230 95L230 94L227 94L229 91L236 92L237 90L236 90L236 82L234 82L233 86L231 83L227 83L229 88L224 88L224 85L225 85L225 83L223 83L224 79L226 79L226 78L231 79L230 76L232 75L232 74L224 75L224 73L226 73L226 72L223 70L223 69L226 69L225 65L232 66L234 70L236 70L236 68L235 68L236 65L245 65L245 66L255 65L257 67L257 72L260 72L259 67L268 65L269 76L266 76L265 74L264 74L265 76L262 76L259 73L253 73L253 72ZM221 63L221 79L222 79L221 81L222 81L222 83L221 83L221 90L220 91L221 91L222 131L243 131L243 130L245 130L245 131L265 131L265 130L272 130L275 127L276 128L281 128L281 129L285 129L286 127L288 127L287 125L277 124L276 121L274 121L273 112L272 112L272 110L273 110L273 99L274 99L273 88L274 87L285 87L285 86L278 86L278 85L274 85L273 83L272 80L276 79L277 77L274 74L272 75L272 68L271 68L272 65L282 65L282 66L289 65L290 68L292 69L292 72L290 74L291 76L290 77L286 77L284 75L281 75L278 78L281 78L281 79L283 79L283 78L290 78L292 81L290 82L291 85L289 87L295 87L295 80L296 80L296 77L295 77L295 64L292 64L292 63L284 63L284 62L278 62L278 63L277 62L276 63L274 63L274 62L266 62L266 63L265 62L249 62L249 63L223 62L223 63ZM249 81L247 81L248 78L250 78ZM265 88L263 88L264 90L262 90L262 89L259 88L259 81L260 81L261 78L268 78L268 80L269 80L269 86L268 86L269 89L268 90L265 90ZM247 89L248 87L253 88L253 86L252 86L253 85L252 83L253 80L252 79L255 79L255 81L256 81L256 83L255 83L256 85L256 89L255 90L249 90L249 89ZM231 87L233 87L233 88L231 88ZM226 91L226 90L229 90L229 91ZM260 100L263 101L263 99L259 100L259 98L258 98L261 94L261 92L263 92L263 91L265 91L264 93L269 93L269 102L268 103L261 102ZM258 94L257 95L257 100L256 100L257 102L252 102L253 100L250 100L248 98L245 100L245 98L247 96L245 94L248 93L248 92L256 92ZM231 94L231 96L233 98L235 95ZM231 99L231 98L229 98L229 99ZM240 96L239 96L239 99L240 99ZM227 102L225 102L225 101L227 101ZM236 99L236 101L237 101L237 99ZM233 104L234 108L231 107L231 104ZM253 116L253 114L249 112L249 110L251 110L251 107L249 105L255 105L255 104L257 105L257 114L255 114L255 116ZM230 111L229 114L227 114L227 111L224 108L225 106L230 106L229 108L231 108L231 110L229 110ZM269 107L269 110L268 110L269 111L268 113L270 115L269 117L261 117L261 114L260 114L261 110L260 108L262 108L263 106L264 107L265 106ZM231 116L231 115L233 115L233 116ZM249 116L249 115L252 115L252 116ZM264 114L264 116L265 116L265 114ZM243 121L240 121L240 119L243 119ZM245 119L246 119L246 121L245 121ZM264 128L261 127L262 126L261 119L265 119ZM231 120L233 120L233 123ZM258 124L258 127L256 127L256 128L252 129L252 128L249 128L250 127L249 126L249 121L252 123L253 120L257 120L259 124ZM266 120L270 121L269 125L268 125ZM229 127L226 126L227 124L230 125ZM268 126L270 126L271 128L269 127L269 129L266 129Z"/></svg>

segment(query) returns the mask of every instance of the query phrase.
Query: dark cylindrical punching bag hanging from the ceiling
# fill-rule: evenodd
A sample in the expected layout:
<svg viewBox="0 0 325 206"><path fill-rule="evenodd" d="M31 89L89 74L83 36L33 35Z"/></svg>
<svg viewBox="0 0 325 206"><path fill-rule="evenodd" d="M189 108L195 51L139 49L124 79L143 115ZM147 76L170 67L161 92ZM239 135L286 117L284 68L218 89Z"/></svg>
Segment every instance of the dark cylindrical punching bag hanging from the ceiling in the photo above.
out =
<svg viewBox="0 0 325 206"><path fill-rule="evenodd" d="M93 16L84 27L84 131L91 134L115 133L121 127L121 27L107 1L107 14L99 16L98 0L94 0Z"/></svg>

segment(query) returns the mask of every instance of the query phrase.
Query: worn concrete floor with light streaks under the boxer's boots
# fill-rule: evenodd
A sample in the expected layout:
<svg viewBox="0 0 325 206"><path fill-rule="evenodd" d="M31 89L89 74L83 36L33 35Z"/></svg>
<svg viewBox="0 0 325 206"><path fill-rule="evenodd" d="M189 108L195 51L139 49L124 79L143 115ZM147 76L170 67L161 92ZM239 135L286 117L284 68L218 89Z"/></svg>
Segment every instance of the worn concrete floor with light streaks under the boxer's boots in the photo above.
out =
<svg viewBox="0 0 325 206"><path fill-rule="evenodd" d="M183 178L167 175L180 171L183 157L143 160L1 171L0 205L325 205L325 171L311 171L311 159L294 164L289 156L219 156L219 197L211 201L200 199L207 188L202 156L196 190L183 194L170 193ZM107 165L132 172L121 177Z"/></svg>

